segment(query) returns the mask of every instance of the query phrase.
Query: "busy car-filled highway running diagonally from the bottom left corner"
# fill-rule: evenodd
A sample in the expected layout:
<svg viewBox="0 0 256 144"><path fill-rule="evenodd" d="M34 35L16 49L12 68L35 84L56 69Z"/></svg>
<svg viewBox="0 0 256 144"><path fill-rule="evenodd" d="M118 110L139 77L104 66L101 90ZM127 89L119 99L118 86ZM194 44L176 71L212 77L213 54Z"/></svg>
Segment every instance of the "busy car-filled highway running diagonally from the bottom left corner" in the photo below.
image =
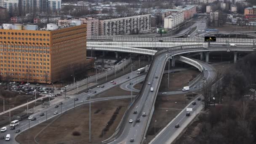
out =
<svg viewBox="0 0 256 144"><path fill-rule="evenodd" d="M146 69L148 69L148 68L149 67L146 67ZM64 112L68 109L74 108L74 98L78 98L78 101L75 101L75 104L78 104L83 101L86 101L88 99L88 96L91 96L91 98L93 99L97 94L102 93L103 91L107 91L110 88L113 88L121 83L125 83L126 81L131 80L131 75L132 76L138 75L136 73L137 69L134 69L134 70L135 71L133 71L132 73L130 72L129 74L123 75L122 77L118 77L115 80L113 80L114 82L116 82L116 85L113 85L113 83L110 83L110 82L104 83L103 84L104 88L92 88L91 92L80 93L78 95L74 95L74 96L72 96L73 99L66 99L66 100L62 101L63 104L59 105L58 108L55 108L55 105L53 105L51 107L45 108L41 112L34 113L31 116L36 117L37 120L35 120L35 121L22 120L22 121L20 121L19 125L16 126L16 130L20 129L22 132L22 131L25 131L26 129L28 129L29 127L31 128L35 125L38 125L39 123L44 122L46 120L46 112L47 112L47 119L50 119L52 117L57 116L57 115L53 115L53 113L55 111L58 111L58 113L60 114L61 111ZM128 76L130 77L129 79L126 78ZM96 93L93 93L93 91L96 91ZM130 96L128 96L128 97L130 97ZM39 115L42 112L45 114L45 116L40 117ZM17 136L17 133L15 133L16 130L10 130L10 125L6 125L6 127L7 127L7 131L5 131L4 133L0 133L0 136L2 136L2 135L6 136L6 134L11 134L11 139L10 139L10 141L0 140L0 144L16 144L17 142L14 139Z"/></svg>

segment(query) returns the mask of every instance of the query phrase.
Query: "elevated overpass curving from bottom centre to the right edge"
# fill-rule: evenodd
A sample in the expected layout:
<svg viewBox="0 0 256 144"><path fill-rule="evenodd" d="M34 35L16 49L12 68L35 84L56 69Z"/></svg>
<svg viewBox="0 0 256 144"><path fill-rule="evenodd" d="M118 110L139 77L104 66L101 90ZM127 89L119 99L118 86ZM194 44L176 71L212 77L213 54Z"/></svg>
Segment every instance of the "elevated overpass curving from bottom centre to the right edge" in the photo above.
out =
<svg viewBox="0 0 256 144"><path fill-rule="evenodd" d="M157 97L166 62L171 57L173 58L182 53L201 51L253 51L253 48L230 48L227 50L227 48L203 48L202 45L184 45L158 51L155 53L152 64L141 87L141 91L128 106L128 109L113 136L103 142L108 142L109 144L129 144L129 140L134 139L137 144L143 143L149 122L154 112L155 99ZM159 78L155 76L159 76ZM151 82L152 84L148 85L147 82ZM153 92L150 91L151 87L154 88ZM138 112L137 115L133 114L133 111L135 110ZM146 112L146 117L141 117L143 112ZM129 119L136 120L137 118L141 119L140 123L128 123Z"/></svg>

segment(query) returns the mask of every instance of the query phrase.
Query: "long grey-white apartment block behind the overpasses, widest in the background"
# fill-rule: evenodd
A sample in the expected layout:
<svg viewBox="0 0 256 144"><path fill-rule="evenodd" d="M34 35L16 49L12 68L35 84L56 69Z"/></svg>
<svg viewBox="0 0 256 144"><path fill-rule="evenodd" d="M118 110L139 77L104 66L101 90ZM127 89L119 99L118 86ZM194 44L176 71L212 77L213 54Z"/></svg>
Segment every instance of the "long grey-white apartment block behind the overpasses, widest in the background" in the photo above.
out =
<svg viewBox="0 0 256 144"><path fill-rule="evenodd" d="M129 35L149 32L151 14L99 20L99 35Z"/></svg>

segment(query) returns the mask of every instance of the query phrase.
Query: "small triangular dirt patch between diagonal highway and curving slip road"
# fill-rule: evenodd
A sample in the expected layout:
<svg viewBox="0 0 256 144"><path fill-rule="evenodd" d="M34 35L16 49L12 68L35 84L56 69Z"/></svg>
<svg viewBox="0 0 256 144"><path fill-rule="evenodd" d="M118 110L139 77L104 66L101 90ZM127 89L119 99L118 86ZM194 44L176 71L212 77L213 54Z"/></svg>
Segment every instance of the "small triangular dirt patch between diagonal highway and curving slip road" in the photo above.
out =
<svg viewBox="0 0 256 144"><path fill-rule="evenodd" d="M136 92L133 92L133 95L136 95ZM131 91L125 91L119 87L119 85L115 86L114 88L110 88L107 91L99 93L95 96L95 98L105 98L105 97L112 97L112 96L129 96L131 95Z"/></svg>

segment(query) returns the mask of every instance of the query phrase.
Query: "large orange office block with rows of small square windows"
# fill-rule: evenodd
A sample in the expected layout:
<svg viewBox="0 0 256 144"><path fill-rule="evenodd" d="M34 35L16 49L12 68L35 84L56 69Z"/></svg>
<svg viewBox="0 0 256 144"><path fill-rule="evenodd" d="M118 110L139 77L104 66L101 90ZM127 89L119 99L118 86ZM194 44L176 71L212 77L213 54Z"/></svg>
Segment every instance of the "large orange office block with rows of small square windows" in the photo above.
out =
<svg viewBox="0 0 256 144"><path fill-rule="evenodd" d="M51 83L86 60L86 25L55 30L0 29L0 74L5 80ZM70 76L70 75L69 75Z"/></svg>

